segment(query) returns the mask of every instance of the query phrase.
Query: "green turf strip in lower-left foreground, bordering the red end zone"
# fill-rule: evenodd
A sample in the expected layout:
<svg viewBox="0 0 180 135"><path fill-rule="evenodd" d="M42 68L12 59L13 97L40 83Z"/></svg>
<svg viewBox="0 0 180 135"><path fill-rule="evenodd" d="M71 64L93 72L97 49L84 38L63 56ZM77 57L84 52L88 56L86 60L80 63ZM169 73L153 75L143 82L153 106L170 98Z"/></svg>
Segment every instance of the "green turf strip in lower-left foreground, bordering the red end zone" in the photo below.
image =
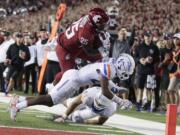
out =
<svg viewBox="0 0 180 135"><path fill-rule="evenodd" d="M36 110L24 109L18 113L17 121L13 122L10 120L9 113L7 112L7 104L0 104L0 125L13 126L13 127L30 127L30 128L41 128L41 129L55 129L65 131L80 131L80 132L94 132L102 134L113 134L113 135L139 135L137 133L128 133L125 130L117 128L111 128L107 126L93 127L96 129L104 129L105 131L92 130L90 125L81 126L81 124L72 125L71 123L58 124L51 120L52 115ZM43 117L39 117L43 116ZM107 127L107 128L106 128ZM91 130L90 130L91 129ZM107 131L113 130L115 132ZM121 132L122 131L122 132ZM124 131L124 132L123 132Z"/></svg>

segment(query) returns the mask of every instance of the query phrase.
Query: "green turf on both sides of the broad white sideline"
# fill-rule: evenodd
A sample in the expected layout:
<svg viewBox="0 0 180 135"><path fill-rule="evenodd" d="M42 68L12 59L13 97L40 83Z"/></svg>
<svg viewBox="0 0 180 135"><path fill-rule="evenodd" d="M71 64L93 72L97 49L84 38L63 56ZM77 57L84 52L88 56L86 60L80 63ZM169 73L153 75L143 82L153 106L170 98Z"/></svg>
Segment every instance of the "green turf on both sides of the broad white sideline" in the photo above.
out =
<svg viewBox="0 0 180 135"><path fill-rule="evenodd" d="M24 94L22 92L18 92L18 95L24 95ZM110 134L138 135L137 133L133 133L131 131L120 130L109 126L94 126L94 125L83 125L83 124L73 124L73 123L58 124L52 121L52 114L44 113L37 110L29 110L29 109L24 109L20 113L18 113L17 122L12 122L9 118L9 113L7 111L7 108L8 108L7 104L0 103L0 125L56 129L56 130L66 130L66 131L85 131L85 132L102 133L109 135ZM136 112L134 108L130 111L119 110L117 113L121 115L126 115L130 117L161 122L161 123L165 123L166 121L165 114ZM180 125L180 117L177 117L177 125Z"/></svg>

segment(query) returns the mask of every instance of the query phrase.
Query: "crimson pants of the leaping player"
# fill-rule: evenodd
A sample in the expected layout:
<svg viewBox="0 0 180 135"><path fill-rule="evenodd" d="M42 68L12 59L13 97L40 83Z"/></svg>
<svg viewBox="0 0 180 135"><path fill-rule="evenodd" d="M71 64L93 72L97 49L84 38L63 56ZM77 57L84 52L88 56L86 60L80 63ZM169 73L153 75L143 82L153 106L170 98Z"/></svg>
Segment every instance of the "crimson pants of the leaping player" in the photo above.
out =
<svg viewBox="0 0 180 135"><path fill-rule="evenodd" d="M69 69L74 69L76 66L75 59L81 58L82 60L89 60L90 62L95 62L97 60L101 59L101 55L97 56L87 56L87 54L82 51L76 53L70 53L69 51L65 50L61 45L56 46L56 55L59 60L59 66L61 68L61 71L56 74L55 76L55 82L59 82L61 80L61 77L63 73Z"/></svg>

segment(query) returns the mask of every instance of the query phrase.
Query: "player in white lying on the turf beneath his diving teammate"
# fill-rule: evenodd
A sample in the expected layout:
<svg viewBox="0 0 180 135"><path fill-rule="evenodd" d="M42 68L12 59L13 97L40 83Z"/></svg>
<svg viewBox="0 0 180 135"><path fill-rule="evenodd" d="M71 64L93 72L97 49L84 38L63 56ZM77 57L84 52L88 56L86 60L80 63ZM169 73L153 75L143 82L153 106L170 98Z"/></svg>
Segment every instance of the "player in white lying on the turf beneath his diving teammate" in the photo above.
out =
<svg viewBox="0 0 180 135"><path fill-rule="evenodd" d="M111 88L114 94L120 94L127 89ZM129 105L129 106L127 106ZM125 106L129 109L132 104L127 101ZM67 107L67 111L62 116L55 118L55 122L64 122L66 119L77 123L86 124L100 124L108 120L112 116L118 107L122 107L122 104L116 104L102 95L101 87L91 87L83 91L82 94L78 95L73 99L72 103ZM92 119L95 118L96 119Z"/></svg>

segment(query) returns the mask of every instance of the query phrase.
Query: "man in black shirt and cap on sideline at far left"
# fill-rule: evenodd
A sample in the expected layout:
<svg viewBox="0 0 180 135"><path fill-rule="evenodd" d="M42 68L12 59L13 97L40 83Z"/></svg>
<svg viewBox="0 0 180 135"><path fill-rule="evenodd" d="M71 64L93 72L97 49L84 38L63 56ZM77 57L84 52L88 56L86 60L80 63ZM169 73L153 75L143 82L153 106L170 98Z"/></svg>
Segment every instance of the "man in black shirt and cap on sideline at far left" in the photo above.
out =
<svg viewBox="0 0 180 135"><path fill-rule="evenodd" d="M23 36L21 33L15 35L15 43L7 50L7 57L5 65L9 70L6 77L8 84L5 93L7 94L14 87L14 80L18 77L24 69L24 62L30 59L30 52L27 46L23 44Z"/></svg>

